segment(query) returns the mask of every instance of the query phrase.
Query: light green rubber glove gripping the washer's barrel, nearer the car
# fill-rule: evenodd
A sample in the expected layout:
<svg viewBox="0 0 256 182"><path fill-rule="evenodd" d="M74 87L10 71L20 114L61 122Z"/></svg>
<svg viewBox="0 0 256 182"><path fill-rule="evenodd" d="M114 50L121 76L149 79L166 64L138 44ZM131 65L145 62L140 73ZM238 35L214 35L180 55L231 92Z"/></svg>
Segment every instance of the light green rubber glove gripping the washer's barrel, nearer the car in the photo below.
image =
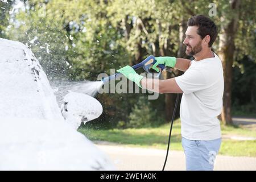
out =
<svg viewBox="0 0 256 182"><path fill-rule="evenodd" d="M134 71L133 68L131 68L129 65L118 69L118 73L122 73L125 77L127 77L129 80L134 81L135 84L137 84L139 87L141 87L141 79L144 78L143 76L139 75Z"/></svg>

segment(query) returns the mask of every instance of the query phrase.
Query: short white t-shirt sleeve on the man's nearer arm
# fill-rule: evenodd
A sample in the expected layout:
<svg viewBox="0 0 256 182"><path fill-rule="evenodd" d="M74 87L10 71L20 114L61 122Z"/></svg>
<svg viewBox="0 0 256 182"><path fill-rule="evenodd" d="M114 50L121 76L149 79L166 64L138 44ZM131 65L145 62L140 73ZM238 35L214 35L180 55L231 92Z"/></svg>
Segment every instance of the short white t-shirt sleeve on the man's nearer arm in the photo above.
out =
<svg viewBox="0 0 256 182"><path fill-rule="evenodd" d="M183 75L175 77L175 81L185 94L203 90L207 86L205 76L198 68L188 69Z"/></svg>

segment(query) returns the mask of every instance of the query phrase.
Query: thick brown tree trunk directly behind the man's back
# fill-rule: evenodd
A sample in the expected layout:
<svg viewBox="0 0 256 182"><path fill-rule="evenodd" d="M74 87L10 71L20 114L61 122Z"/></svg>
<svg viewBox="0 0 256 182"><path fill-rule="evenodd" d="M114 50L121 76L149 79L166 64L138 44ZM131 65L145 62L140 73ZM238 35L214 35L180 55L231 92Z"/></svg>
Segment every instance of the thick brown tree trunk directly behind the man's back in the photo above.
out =
<svg viewBox="0 0 256 182"><path fill-rule="evenodd" d="M225 125L233 123L231 115L231 87L232 87L232 65L234 60L234 38L238 28L238 6L239 0L230 1L229 14L222 15L220 45L218 55L222 60L224 71L224 96L221 120Z"/></svg>

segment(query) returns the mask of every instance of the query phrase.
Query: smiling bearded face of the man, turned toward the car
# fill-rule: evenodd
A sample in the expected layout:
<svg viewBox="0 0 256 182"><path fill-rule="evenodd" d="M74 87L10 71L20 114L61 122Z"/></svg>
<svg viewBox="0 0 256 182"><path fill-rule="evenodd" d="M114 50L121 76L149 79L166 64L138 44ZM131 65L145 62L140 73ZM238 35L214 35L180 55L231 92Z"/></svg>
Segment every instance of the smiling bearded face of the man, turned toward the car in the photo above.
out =
<svg viewBox="0 0 256 182"><path fill-rule="evenodd" d="M189 56L194 56L202 50L202 39L200 35L197 34L197 26L189 26L185 32L186 38L183 41L186 47L186 54Z"/></svg>

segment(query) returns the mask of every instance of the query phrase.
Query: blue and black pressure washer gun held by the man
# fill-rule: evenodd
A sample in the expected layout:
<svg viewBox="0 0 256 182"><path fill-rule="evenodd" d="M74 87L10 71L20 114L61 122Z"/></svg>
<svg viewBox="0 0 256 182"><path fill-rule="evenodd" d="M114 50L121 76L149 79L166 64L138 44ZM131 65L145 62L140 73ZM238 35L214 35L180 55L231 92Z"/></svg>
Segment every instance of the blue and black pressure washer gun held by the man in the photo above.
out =
<svg viewBox="0 0 256 182"><path fill-rule="evenodd" d="M134 70L137 70L137 69L139 69L139 68L143 68L144 71L146 71L147 73L154 73L154 72L150 72L150 70L152 70L151 67L152 67L152 65L154 65L155 63L156 63L155 57L151 55L151 56L148 56L146 59L144 59L141 63L138 63L138 64L133 65L132 68L133 68ZM155 77L157 77L157 78L161 75L161 73L162 73L162 71L163 71L163 69L164 69L164 65L163 65L163 64L159 64L159 65L158 65L158 68L159 68L159 72L158 72L158 74L155 76ZM115 79L115 78L118 78L118 77L121 76L121 75L122 75L122 73L115 73L115 75L111 75L111 76L109 76L109 77L102 78L101 81L103 81L104 84L105 84L106 82L109 82L110 80L113 80L113 79Z"/></svg>

